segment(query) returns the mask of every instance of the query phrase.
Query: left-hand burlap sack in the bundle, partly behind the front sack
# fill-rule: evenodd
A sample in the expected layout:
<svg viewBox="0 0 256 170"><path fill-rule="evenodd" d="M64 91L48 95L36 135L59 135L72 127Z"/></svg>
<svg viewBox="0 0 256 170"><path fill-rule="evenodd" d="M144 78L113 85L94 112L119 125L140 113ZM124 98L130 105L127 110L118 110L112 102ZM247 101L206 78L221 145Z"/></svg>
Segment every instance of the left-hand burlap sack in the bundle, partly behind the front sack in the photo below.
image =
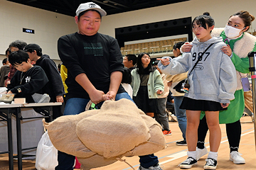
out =
<svg viewBox="0 0 256 170"><path fill-rule="evenodd" d="M82 144L75 130L80 120L95 115L99 111L90 110L78 115L65 115L50 123L46 123L43 120L43 125L48 130L48 135L53 146L59 151L74 155L75 157L90 157L96 154Z"/></svg>

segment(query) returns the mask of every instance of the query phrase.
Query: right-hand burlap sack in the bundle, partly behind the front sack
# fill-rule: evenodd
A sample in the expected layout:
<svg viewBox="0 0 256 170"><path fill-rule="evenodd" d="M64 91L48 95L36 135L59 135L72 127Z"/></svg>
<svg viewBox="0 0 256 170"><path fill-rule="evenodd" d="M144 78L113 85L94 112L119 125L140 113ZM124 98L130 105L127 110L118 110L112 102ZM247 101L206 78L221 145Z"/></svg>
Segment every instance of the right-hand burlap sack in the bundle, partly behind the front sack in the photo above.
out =
<svg viewBox="0 0 256 170"><path fill-rule="evenodd" d="M138 145L131 151L124 154L126 157L154 154L166 148L166 140L162 132L161 125L159 125L159 123L157 123L153 118L145 115L142 111L140 113L147 127L149 128L151 137L148 141Z"/></svg>

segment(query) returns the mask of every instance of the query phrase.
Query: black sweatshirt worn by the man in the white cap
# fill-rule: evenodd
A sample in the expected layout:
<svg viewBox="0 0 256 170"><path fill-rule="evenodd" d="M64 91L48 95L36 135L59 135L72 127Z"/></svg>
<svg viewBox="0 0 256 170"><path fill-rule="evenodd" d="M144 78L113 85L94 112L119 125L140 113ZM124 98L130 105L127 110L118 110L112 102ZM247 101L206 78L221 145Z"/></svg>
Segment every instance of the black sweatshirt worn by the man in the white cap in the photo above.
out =
<svg viewBox="0 0 256 170"><path fill-rule="evenodd" d="M68 69L66 98L88 98L85 89L75 81L78 74L85 73L97 90L106 94L110 89L110 74L123 72L122 54L117 40L109 35L96 33L92 36L73 33L58 40L58 55ZM124 92L119 86L117 94Z"/></svg>

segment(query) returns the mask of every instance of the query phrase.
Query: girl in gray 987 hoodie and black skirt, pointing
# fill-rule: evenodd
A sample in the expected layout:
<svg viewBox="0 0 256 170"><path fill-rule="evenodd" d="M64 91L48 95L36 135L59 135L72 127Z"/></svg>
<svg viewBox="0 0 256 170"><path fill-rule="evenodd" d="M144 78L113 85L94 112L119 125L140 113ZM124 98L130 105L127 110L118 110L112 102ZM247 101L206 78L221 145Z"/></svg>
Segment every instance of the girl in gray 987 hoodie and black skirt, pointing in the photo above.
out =
<svg viewBox="0 0 256 170"><path fill-rule="evenodd" d="M210 152L204 169L216 169L221 131L219 111L226 109L233 100L236 89L235 67L230 57L221 48L222 38L212 38L213 18L209 13L194 18L192 30L196 38L191 42L191 52L182 57L163 57L159 69L164 74L188 72L189 91L185 94L181 107L186 109L188 158L179 166L189 169L197 164L196 144L201 111L205 111L210 130Z"/></svg>

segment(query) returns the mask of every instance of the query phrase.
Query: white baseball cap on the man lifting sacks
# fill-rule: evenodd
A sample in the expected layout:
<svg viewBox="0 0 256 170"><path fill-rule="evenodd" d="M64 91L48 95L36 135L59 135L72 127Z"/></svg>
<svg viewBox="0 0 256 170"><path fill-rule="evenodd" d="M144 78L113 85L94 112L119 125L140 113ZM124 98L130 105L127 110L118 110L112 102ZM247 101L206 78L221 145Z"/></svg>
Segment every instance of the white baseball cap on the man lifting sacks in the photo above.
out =
<svg viewBox="0 0 256 170"><path fill-rule="evenodd" d="M75 13L77 16L79 16L79 13L81 13L82 11L87 11L90 9L94 9L95 11L98 11L100 13L100 16L107 15L107 12L104 9L102 9L100 6L95 4L94 2L87 2L84 4L80 4L80 6L78 6L77 11L75 11Z"/></svg>

